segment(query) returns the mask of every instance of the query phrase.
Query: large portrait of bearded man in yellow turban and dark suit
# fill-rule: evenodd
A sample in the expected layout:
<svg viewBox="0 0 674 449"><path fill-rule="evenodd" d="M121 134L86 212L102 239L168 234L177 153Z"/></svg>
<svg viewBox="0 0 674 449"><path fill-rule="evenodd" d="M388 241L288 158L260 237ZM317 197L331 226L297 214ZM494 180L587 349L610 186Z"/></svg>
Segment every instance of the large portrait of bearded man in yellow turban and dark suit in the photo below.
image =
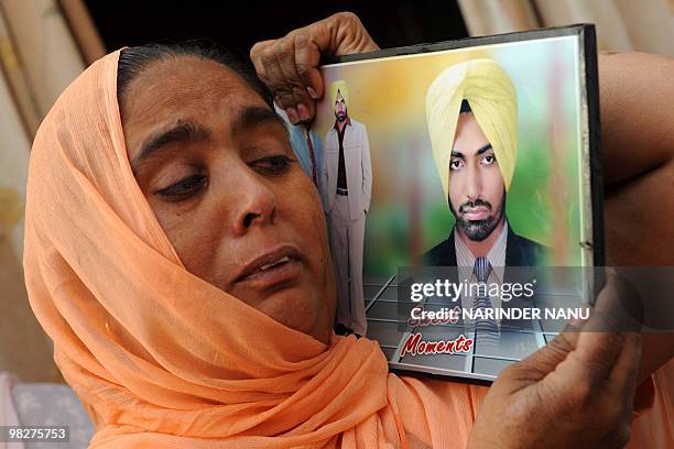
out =
<svg viewBox="0 0 674 449"><path fill-rule="evenodd" d="M487 58L445 69L426 94L426 120L456 218L427 263L472 267L486 258L491 267L535 265L544 247L514 233L506 217L518 150L517 92L506 70Z"/></svg>

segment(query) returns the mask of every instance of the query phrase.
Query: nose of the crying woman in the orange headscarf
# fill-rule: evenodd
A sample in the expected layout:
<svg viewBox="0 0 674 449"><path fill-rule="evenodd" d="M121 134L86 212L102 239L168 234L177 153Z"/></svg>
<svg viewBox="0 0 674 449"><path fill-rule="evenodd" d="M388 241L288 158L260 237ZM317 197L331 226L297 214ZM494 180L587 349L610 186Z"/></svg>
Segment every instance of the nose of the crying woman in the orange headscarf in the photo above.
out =
<svg viewBox="0 0 674 449"><path fill-rule="evenodd" d="M246 234L254 226L272 223L276 216L276 195L269 185L249 167L237 176L237 187L232 189L233 222L232 231L237 237Z"/></svg>

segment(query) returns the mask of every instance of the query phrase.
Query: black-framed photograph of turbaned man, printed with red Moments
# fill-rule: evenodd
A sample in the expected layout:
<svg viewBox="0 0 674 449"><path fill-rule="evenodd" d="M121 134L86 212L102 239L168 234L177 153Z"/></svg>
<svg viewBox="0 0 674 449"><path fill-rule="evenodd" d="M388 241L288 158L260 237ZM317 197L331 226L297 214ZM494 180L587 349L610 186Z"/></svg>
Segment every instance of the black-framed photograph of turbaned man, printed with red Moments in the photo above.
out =
<svg viewBox="0 0 674 449"><path fill-rule="evenodd" d="M489 382L583 316L604 265L593 25L320 72L293 144L324 202L338 328L392 370Z"/></svg>

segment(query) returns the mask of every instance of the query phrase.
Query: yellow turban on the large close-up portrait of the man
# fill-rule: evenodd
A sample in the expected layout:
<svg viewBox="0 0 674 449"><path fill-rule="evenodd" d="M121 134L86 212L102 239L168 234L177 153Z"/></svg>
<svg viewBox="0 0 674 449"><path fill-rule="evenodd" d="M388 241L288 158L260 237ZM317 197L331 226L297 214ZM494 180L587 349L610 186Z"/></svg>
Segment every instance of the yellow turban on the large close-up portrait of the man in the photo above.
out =
<svg viewBox="0 0 674 449"><path fill-rule="evenodd" d="M449 191L449 160L464 99L470 105L472 114L493 147L508 190L518 150L515 89L497 63L471 59L445 69L426 92L428 134L445 197Z"/></svg>

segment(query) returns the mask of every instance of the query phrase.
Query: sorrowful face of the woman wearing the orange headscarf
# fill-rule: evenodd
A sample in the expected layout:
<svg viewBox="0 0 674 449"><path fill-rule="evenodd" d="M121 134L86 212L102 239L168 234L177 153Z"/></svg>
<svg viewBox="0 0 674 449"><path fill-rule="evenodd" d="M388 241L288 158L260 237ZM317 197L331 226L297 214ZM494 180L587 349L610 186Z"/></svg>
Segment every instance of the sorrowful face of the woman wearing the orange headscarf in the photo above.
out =
<svg viewBox="0 0 674 449"><path fill-rule="evenodd" d="M185 267L327 342L325 218L274 111L233 72L189 56L144 69L120 102L133 173Z"/></svg>

